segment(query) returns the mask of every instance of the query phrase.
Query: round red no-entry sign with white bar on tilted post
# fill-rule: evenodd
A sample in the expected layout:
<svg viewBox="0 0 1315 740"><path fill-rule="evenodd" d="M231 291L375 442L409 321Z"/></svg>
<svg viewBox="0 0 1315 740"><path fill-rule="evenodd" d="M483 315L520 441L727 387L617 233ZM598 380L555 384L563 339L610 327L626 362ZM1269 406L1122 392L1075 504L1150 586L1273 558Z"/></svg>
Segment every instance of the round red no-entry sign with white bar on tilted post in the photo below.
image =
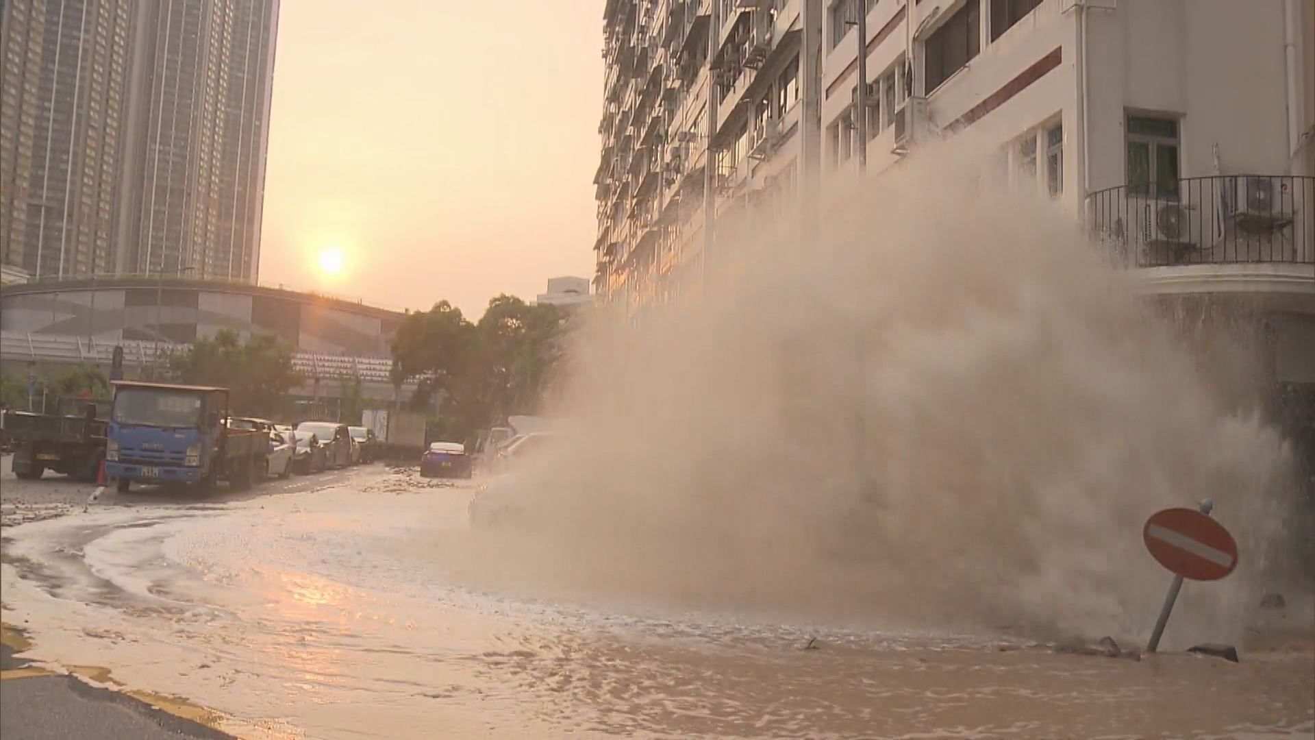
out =
<svg viewBox="0 0 1315 740"><path fill-rule="evenodd" d="M1237 568L1237 542L1228 529L1190 508L1166 508L1147 519L1141 539L1151 557L1193 581L1218 581Z"/></svg>

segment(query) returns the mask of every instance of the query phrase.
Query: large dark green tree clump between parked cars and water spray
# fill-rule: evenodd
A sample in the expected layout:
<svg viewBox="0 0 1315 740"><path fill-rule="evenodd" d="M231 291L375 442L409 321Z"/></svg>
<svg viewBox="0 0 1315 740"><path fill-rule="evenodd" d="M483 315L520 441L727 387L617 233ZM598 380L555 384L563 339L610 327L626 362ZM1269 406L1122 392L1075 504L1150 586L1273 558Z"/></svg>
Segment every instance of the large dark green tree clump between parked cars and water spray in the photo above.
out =
<svg viewBox="0 0 1315 740"><path fill-rule="evenodd" d="M442 392L441 428L451 438L508 416L539 411L562 357L567 312L500 295L471 324L447 302L406 316L393 338L393 382L414 379L412 402Z"/></svg>

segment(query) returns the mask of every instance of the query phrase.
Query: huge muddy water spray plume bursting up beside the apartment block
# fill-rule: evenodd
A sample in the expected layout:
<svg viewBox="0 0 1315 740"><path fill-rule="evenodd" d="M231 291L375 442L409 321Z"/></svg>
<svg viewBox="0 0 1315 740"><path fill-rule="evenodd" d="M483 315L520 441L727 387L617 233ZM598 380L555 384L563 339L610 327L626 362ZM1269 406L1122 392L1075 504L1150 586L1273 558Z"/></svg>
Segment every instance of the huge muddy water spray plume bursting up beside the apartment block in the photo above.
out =
<svg viewBox="0 0 1315 740"><path fill-rule="evenodd" d="M576 444L519 475L534 525L504 571L679 607L1144 635L1168 574L1141 524L1211 498L1243 565L1189 589L1177 628L1239 628L1281 541L1286 446L1072 213L970 154L865 180L817 234L723 237L697 304L581 333L559 404Z"/></svg>

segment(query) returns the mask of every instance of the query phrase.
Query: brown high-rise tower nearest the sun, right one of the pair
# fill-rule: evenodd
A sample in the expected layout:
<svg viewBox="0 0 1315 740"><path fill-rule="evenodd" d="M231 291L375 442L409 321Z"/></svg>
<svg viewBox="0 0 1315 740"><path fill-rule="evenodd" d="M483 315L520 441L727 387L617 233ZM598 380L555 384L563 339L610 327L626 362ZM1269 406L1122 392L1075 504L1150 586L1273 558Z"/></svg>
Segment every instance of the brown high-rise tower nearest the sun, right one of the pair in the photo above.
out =
<svg viewBox="0 0 1315 740"><path fill-rule="evenodd" d="M118 271L255 282L279 0L141 0Z"/></svg>

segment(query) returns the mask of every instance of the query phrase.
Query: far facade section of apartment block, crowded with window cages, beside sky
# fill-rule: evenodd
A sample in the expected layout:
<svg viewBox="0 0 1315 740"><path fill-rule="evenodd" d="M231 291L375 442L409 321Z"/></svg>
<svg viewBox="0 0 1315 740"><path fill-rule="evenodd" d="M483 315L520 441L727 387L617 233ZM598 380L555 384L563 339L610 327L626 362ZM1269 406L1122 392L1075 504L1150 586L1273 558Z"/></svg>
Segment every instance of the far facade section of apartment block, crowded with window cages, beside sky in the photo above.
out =
<svg viewBox="0 0 1315 740"><path fill-rule="evenodd" d="M697 291L718 233L796 212L817 179L813 0L609 0L594 175L596 292L630 309ZM811 16L810 16L811 13ZM815 17L814 17L815 16Z"/></svg>

